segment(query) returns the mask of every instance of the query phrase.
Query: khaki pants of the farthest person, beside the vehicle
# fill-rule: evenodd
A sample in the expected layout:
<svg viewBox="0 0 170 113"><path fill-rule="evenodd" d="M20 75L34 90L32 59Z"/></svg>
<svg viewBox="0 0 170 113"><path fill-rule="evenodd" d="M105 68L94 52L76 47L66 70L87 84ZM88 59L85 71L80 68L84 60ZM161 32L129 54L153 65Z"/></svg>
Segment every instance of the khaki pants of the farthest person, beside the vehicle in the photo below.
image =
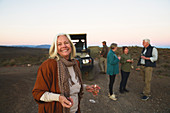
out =
<svg viewBox="0 0 170 113"><path fill-rule="evenodd" d="M100 64L101 71L106 73L106 70L107 70L107 58L100 57L99 64Z"/></svg>

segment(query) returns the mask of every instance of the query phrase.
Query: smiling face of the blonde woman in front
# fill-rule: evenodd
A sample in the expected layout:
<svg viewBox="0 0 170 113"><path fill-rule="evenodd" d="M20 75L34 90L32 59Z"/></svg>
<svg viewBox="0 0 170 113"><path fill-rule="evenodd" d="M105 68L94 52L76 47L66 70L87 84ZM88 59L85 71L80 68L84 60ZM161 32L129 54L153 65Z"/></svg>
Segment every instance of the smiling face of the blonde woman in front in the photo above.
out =
<svg viewBox="0 0 170 113"><path fill-rule="evenodd" d="M65 35L58 36L58 39L57 39L58 54L68 60L71 54L71 51L72 51L71 44L68 38Z"/></svg>

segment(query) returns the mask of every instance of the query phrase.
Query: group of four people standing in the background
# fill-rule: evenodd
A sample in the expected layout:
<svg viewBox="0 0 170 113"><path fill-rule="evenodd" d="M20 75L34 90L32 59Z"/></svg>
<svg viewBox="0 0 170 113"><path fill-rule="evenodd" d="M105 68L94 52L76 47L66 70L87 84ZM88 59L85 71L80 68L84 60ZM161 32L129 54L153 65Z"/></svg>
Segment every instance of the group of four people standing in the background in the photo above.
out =
<svg viewBox="0 0 170 113"><path fill-rule="evenodd" d="M113 92L113 84L116 78L116 75L119 74L119 63L121 64L121 82L119 87L119 92L129 92L126 89L126 84L133 63L133 58L129 54L129 49L127 46L123 46L123 54L121 56L116 55L117 44L112 43L110 45L110 50L106 45L106 41L102 42L103 48L100 52L100 69L101 73L109 75L109 98L112 100L117 100L116 95ZM151 78L153 67L156 67L156 61L158 59L158 50L151 46L149 39L143 40L143 50L139 57L137 66L140 67L137 70L140 70L141 75L143 76L144 88L141 92L142 100L148 100L151 96Z"/></svg>

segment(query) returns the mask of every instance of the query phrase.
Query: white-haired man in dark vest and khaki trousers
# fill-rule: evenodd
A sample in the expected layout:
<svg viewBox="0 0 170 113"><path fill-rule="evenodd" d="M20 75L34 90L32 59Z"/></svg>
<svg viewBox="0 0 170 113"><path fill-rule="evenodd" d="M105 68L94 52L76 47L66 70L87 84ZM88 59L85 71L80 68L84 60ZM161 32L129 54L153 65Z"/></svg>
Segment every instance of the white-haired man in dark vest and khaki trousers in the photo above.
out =
<svg viewBox="0 0 170 113"><path fill-rule="evenodd" d="M142 100L148 100L151 92L151 79L153 67L156 67L156 61L158 59L158 50L151 46L149 39L143 40L143 50L138 61L138 66L140 66L140 73L143 76L143 81L145 82L143 88Z"/></svg>

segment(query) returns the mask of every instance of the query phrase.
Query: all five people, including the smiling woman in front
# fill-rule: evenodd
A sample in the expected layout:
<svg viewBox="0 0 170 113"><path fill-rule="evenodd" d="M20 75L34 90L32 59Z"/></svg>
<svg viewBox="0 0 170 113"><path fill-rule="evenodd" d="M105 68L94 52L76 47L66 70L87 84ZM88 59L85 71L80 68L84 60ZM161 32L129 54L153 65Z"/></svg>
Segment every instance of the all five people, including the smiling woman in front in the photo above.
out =
<svg viewBox="0 0 170 113"><path fill-rule="evenodd" d="M143 41L144 49L138 65L141 65L141 74L144 76L144 96L150 94L150 80L152 67L156 66L157 49L152 47L149 40ZM130 74L130 64L133 62L128 54L128 47L123 47L123 54L117 57L115 51L117 44L112 43L110 50L103 42L100 63L105 66L102 73L107 73L110 78L109 97L116 100L113 93L113 84L116 74L119 73L121 63L122 80L120 92L128 92L126 83ZM98 85L83 84L79 61L74 57L76 49L68 34L58 34L49 49L49 59L44 61L37 72L37 79L32 90L33 97L38 103L39 113L80 113L80 100L83 92L88 91L97 95ZM102 66L102 64L101 64Z"/></svg>

